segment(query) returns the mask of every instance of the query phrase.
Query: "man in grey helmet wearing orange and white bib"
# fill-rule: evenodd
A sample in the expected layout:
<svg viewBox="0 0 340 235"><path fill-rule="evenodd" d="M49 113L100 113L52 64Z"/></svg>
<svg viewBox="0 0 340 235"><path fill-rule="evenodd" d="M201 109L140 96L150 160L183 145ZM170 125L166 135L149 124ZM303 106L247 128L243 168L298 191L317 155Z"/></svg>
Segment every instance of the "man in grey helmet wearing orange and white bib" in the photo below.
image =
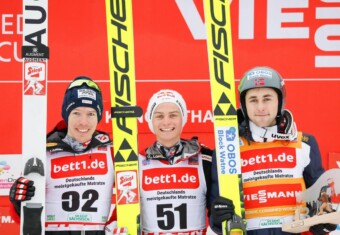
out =
<svg viewBox="0 0 340 235"><path fill-rule="evenodd" d="M283 232L281 227L293 221L297 195L313 185L324 172L317 141L312 135L298 132L292 113L284 108L285 85L277 71L269 67L247 71L240 81L239 94L247 234L288 235L290 233ZM215 161L212 171L217 172ZM218 195L217 174L214 174L212 197L216 200L210 225L221 233L220 223L230 219L234 211L232 201ZM303 214L308 216L306 205L301 206ZM310 231L322 235L335 227L316 225Z"/></svg>

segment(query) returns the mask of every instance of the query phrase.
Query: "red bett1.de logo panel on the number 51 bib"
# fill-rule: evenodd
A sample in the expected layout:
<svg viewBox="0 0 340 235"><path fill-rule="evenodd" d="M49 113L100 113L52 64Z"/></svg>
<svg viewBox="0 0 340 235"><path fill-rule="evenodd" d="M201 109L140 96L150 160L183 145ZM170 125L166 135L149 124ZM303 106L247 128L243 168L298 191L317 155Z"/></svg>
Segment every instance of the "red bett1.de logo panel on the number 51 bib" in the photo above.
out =
<svg viewBox="0 0 340 235"><path fill-rule="evenodd" d="M163 189L196 189L199 187L198 169L171 167L143 170L142 187L146 191Z"/></svg>

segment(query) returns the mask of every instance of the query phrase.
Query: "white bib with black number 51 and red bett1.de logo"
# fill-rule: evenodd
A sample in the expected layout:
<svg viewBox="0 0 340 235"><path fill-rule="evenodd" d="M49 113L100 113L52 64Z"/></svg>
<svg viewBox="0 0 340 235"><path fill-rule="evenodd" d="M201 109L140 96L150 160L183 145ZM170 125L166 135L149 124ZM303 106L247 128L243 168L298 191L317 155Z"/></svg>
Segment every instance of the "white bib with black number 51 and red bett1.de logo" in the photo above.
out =
<svg viewBox="0 0 340 235"><path fill-rule="evenodd" d="M206 182L200 154L175 165L139 157L141 229L176 233L206 227Z"/></svg>

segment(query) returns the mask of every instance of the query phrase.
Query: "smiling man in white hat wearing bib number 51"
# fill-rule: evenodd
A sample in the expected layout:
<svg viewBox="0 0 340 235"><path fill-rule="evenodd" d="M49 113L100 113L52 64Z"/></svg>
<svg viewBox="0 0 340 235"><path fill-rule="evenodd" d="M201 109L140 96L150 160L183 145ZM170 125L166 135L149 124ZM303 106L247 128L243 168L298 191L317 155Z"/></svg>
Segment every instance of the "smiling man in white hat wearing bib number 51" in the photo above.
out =
<svg viewBox="0 0 340 235"><path fill-rule="evenodd" d="M176 91L155 93L146 120L156 142L139 156L142 234L205 234L212 150L180 138L187 108Z"/></svg>

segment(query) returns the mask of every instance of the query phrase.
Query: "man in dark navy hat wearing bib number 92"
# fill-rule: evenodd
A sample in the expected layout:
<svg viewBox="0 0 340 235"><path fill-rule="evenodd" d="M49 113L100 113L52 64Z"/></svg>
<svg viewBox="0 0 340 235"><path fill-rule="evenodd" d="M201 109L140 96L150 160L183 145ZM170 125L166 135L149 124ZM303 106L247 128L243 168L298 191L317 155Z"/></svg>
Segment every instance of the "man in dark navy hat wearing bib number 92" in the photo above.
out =
<svg viewBox="0 0 340 235"><path fill-rule="evenodd" d="M99 86L88 77L74 79L62 104L64 121L47 135L46 235L127 232L126 228L117 228L115 210L110 218L113 151L109 135L96 130L102 113ZM13 184L10 200L18 213L21 201L34 197L34 191L34 182L24 177ZM41 234L39 218L25 234Z"/></svg>

